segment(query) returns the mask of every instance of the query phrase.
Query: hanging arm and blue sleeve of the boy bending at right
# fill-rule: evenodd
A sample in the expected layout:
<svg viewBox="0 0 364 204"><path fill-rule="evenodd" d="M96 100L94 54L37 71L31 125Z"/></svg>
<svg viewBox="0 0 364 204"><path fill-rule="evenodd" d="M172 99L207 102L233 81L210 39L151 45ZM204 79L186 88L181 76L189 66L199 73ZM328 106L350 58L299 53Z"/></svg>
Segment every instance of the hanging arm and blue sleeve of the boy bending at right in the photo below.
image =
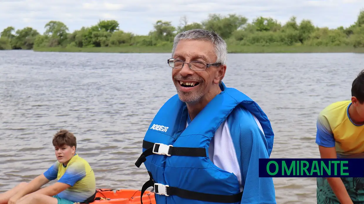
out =
<svg viewBox="0 0 364 204"><path fill-rule="evenodd" d="M321 113L317 118L317 133L316 133L316 143L318 145L318 150L320 151L320 156L323 159L337 158L335 149L335 138L332 133L330 124L325 116ZM352 204L348 191L346 190L343 181L340 178L326 178L327 182L330 184L333 192L335 193L337 199L340 203Z"/></svg>

